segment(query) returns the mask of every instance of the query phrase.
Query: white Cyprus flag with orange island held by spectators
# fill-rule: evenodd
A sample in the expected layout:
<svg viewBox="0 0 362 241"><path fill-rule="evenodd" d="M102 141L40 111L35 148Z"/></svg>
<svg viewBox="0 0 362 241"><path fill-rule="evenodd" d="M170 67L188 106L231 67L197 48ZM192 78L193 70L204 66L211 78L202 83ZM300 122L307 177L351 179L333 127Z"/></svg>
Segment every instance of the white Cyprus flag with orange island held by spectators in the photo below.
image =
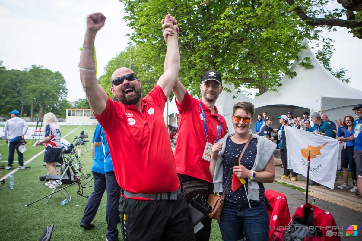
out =
<svg viewBox="0 0 362 241"><path fill-rule="evenodd" d="M286 126L288 168L307 177L308 149L311 150L309 178L334 189L339 142L331 137Z"/></svg>

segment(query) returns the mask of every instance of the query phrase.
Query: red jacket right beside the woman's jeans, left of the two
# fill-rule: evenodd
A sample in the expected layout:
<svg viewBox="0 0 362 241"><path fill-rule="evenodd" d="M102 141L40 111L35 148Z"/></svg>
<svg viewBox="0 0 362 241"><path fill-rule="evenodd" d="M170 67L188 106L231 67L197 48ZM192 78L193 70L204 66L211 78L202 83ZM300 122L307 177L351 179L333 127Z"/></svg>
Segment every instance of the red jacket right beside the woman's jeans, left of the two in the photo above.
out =
<svg viewBox="0 0 362 241"><path fill-rule="evenodd" d="M287 203L287 198L284 194L278 193L274 190L265 191L265 206L268 211L270 223L269 223L269 240L273 240L275 231L281 228L278 232L278 235L281 236L285 232L285 227L288 226L290 222L289 207ZM282 237L280 237L282 238Z"/></svg>

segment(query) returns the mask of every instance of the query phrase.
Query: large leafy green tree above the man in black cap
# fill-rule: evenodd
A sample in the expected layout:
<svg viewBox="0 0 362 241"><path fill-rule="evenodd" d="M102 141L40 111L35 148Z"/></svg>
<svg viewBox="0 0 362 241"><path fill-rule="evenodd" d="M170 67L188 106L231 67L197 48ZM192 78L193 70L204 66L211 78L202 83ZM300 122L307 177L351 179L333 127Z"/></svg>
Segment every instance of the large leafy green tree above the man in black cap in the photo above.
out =
<svg viewBox="0 0 362 241"><path fill-rule="evenodd" d="M199 94L202 75L210 69L222 73L226 82L257 88L260 94L275 89L283 75L295 76L289 67L299 59L303 39L323 39L320 27L306 25L284 1L120 1L126 6L124 19L134 29L131 40L139 60L153 66L155 76L163 71L166 49L160 20L167 13L177 18L179 78L192 94Z"/></svg>

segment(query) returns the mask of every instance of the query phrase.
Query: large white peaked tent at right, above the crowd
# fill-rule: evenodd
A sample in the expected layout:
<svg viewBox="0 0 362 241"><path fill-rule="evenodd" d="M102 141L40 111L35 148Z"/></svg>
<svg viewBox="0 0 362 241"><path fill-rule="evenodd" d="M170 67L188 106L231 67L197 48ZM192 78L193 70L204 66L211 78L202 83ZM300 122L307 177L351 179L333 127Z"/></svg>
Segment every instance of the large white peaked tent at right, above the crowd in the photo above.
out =
<svg viewBox="0 0 362 241"><path fill-rule="evenodd" d="M355 104L362 103L362 91L343 83L328 72L313 55L306 39L303 41L306 49L299 52L299 58L310 58L307 62L313 65L312 68L304 68L299 65L300 60L294 61L290 71L296 72L294 78L284 76L281 79L282 86L277 87L277 92L268 91L253 100L258 112L266 107L284 107L293 112L327 113L330 120L343 118L346 115L353 115L352 108ZM256 113L258 113L256 112ZM286 114L285 111L275 113L273 117ZM301 114L301 113L300 113ZM271 113L268 113L271 115ZM299 113L293 113L301 116Z"/></svg>

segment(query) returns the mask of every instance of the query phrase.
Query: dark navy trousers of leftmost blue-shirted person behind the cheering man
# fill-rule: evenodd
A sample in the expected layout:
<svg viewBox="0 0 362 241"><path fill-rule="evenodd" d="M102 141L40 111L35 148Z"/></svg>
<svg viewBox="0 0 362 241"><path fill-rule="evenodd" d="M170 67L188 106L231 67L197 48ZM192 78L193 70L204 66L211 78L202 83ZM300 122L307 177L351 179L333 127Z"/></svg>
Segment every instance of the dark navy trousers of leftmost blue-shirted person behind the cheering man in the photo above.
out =
<svg viewBox="0 0 362 241"><path fill-rule="evenodd" d="M106 175L98 172L92 173L94 191L88 199L87 206L84 209L83 218L80 223L92 223L102 201L103 193L106 190Z"/></svg>

